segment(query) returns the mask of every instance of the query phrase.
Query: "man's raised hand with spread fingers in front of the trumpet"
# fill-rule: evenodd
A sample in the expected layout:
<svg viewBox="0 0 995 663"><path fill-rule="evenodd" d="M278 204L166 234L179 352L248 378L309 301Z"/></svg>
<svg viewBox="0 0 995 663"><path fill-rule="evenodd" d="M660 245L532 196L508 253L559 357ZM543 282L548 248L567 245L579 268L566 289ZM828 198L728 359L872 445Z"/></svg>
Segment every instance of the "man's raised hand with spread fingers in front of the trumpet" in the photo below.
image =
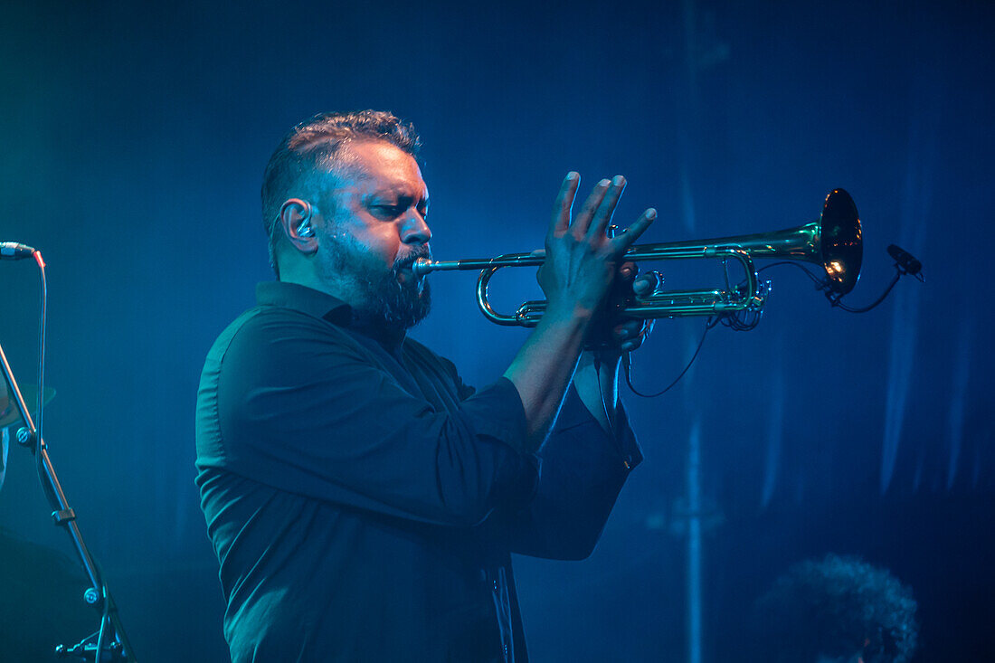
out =
<svg viewBox="0 0 995 663"><path fill-rule="evenodd" d="M546 260L538 282L546 296L545 316L591 319L604 304L626 250L657 217L648 209L625 232L606 235L612 214L625 190L625 177L603 179L570 218L580 176L567 174L556 196L546 233Z"/></svg>

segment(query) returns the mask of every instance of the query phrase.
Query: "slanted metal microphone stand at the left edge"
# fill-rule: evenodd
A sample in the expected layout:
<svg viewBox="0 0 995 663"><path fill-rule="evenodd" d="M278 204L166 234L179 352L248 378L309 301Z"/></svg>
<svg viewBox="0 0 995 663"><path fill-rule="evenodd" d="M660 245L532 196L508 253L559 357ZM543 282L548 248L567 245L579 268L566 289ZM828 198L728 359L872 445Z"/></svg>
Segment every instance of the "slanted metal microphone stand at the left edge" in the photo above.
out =
<svg viewBox="0 0 995 663"><path fill-rule="evenodd" d="M117 615L117 606L110 592L107 590L106 584L103 582L97 562L91 556L87 545L83 541L83 535L80 534L80 528L76 524L76 513L69 506L66 494L59 484L59 478L56 476L52 459L49 458L45 440L38 437L35 422L31 418L28 407L25 405L24 396L17 385L17 380L14 379L14 372L10 369L10 364L7 362L7 355L3 351L3 345L0 345L0 369L3 371L3 376L6 378L7 384L10 385L11 395L14 398L14 402L17 403L21 419L24 421L24 425L15 433L15 437L18 443L21 446L28 447L38 460L40 470L39 479L42 481L42 489L54 509L52 520L55 525L62 527L73 541L73 548L83 562L83 568L90 580L90 587L84 592L83 599L95 609L100 610L100 629L71 647L59 645L56 647L56 654L61 658L74 656L85 661L94 661L94 663L101 663L102 661L130 661L131 663L136 663L137 659L134 656L134 651L131 649L131 643L128 642L127 635L124 633L124 627L120 622L120 617Z"/></svg>

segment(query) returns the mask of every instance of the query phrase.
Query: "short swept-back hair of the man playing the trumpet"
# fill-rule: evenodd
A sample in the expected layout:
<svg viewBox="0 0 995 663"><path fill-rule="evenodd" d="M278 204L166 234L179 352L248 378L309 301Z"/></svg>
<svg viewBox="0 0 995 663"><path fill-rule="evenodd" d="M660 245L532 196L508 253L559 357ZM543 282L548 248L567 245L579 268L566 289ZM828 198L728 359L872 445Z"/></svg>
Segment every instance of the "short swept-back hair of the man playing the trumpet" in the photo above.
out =
<svg viewBox="0 0 995 663"><path fill-rule="evenodd" d="M278 279L277 245L283 234L280 208L295 194L308 195L312 177L319 171L332 171L339 164L339 148L352 140L383 140L412 156L421 147L414 125L387 110L319 112L292 128L277 145L263 175L263 225L270 238L270 265Z"/></svg>

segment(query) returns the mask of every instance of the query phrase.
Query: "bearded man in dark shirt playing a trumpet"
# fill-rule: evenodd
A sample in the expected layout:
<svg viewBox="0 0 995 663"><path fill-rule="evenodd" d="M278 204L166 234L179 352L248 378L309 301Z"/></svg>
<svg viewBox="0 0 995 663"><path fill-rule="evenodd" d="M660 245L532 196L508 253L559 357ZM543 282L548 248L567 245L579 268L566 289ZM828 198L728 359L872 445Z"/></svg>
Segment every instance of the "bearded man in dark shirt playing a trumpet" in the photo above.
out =
<svg viewBox="0 0 995 663"><path fill-rule="evenodd" d="M430 304L412 272L432 238L418 146L390 113L322 113L267 166L278 280L211 348L197 403L236 663L526 660L510 552L590 554L642 458L617 378L650 325L599 318L656 212L609 238L625 179L571 215L569 173L538 272L545 314L475 390L406 337Z"/></svg>

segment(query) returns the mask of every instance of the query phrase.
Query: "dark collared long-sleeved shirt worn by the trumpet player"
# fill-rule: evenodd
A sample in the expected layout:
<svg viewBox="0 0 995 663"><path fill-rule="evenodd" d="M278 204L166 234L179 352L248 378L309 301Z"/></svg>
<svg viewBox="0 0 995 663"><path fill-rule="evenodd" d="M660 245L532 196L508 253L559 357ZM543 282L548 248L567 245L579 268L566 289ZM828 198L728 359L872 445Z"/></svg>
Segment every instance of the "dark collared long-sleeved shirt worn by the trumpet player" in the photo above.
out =
<svg viewBox="0 0 995 663"><path fill-rule="evenodd" d="M510 552L593 549L641 455L571 388L537 454L505 378L264 283L208 353L197 485L243 661L524 661Z"/></svg>

